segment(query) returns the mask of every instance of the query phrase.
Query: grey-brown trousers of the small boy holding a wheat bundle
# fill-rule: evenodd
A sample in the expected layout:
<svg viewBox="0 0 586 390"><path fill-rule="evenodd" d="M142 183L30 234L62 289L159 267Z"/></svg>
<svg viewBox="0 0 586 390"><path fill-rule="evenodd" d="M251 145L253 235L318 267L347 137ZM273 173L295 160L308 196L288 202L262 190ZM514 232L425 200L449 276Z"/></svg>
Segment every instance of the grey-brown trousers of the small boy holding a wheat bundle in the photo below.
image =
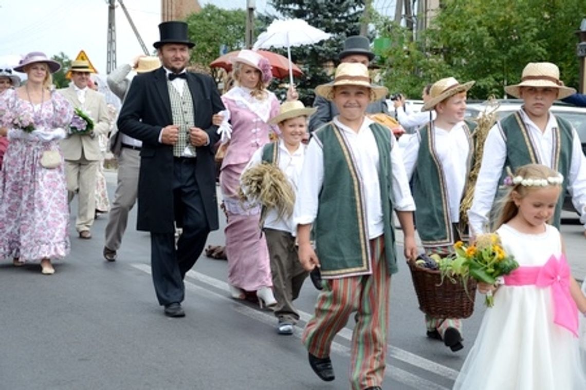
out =
<svg viewBox="0 0 586 390"><path fill-rule="evenodd" d="M277 299L275 316L279 322L294 324L299 320L299 313L293 301L299 296L309 273L299 263L295 237L291 233L275 229L264 229L264 233L271 259L272 288Z"/></svg>

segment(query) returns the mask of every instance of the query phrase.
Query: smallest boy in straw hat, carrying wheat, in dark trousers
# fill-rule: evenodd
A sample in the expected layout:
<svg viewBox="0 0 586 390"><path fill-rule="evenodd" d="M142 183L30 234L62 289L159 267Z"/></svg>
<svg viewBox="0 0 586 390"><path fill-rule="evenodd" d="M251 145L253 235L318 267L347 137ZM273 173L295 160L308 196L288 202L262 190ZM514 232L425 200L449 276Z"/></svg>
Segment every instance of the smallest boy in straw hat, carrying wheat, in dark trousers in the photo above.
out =
<svg viewBox="0 0 586 390"><path fill-rule="evenodd" d="M278 318L278 334L293 334L299 313L292 301L308 275L298 260L292 211L305 156L302 140L308 117L315 111L315 108L305 108L300 101L282 103L279 114L268 122L279 126L280 139L255 151L240 179L248 197L260 198L264 207L261 221L264 220L272 287L277 299L274 312ZM254 193L250 192L252 188Z"/></svg>

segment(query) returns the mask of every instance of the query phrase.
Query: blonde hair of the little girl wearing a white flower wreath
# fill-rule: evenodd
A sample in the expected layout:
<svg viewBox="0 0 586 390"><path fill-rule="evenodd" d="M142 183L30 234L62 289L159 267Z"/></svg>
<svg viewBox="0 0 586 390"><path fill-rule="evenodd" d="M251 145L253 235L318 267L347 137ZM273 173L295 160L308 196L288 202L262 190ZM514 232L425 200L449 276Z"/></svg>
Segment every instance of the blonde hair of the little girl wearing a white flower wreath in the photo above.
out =
<svg viewBox="0 0 586 390"><path fill-rule="evenodd" d="M510 176L509 176L510 177ZM547 167L546 165L541 164L527 164L523 165L522 167L517 168L515 171L515 178L522 177L523 179L532 179L532 180L546 180L548 186L554 187L561 187L561 184L558 182L551 182L550 178L557 178L560 177L560 173ZM498 218L496 219L497 223L495 226L495 230L503 225L503 223L509 222L513 217L517 215L519 212L519 208L515 204L515 200L513 199L513 195L517 194L520 198L524 198L530 191L535 191L538 188L545 188L541 185L524 185L523 182L513 182L513 178L511 179L511 186L506 192L506 195L503 196L502 199L498 202Z"/></svg>

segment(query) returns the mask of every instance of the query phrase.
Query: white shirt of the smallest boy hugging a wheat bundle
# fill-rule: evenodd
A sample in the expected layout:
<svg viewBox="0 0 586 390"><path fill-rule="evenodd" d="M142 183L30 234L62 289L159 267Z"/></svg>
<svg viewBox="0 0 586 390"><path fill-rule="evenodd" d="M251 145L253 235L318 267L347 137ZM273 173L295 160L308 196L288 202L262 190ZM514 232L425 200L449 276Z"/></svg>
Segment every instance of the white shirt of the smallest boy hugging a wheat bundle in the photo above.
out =
<svg viewBox="0 0 586 390"><path fill-rule="evenodd" d="M297 182L299 180L299 176L301 175L301 169L303 167L306 146L302 143L299 143L299 147L297 148L297 150L295 150L293 153L290 153L289 150L287 150L284 141L281 139L279 140L278 148L279 169L288 178L289 183L291 183L291 187L293 187L295 199L297 199ZM262 161L263 147L260 147L254 152L253 157L250 159L250 161L248 161L248 164L242 172L246 172L248 168L254 167L254 165L260 164L262 163ZM240 183L240 185L242 185L242 183ZM244 191L246 191L246 189L244 189ZM267 227L268 229L289 232L293 236L297 236L297 226L293 224L293 216L291 216L291 218L288 219L280 219L278 218L278 213L275 209L267 210L267 218L264 220L263 226Z"/></svg>

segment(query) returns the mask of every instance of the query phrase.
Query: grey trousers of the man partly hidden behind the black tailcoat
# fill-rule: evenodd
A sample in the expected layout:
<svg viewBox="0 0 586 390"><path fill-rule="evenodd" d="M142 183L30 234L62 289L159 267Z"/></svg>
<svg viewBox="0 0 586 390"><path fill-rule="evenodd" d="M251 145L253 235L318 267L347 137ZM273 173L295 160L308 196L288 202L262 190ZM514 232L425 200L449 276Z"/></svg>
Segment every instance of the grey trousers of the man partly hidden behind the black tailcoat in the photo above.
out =
<svg viewBox="0 0 586 390"><path fill-rule="evenodd" d="M138 172L141 157L138 150L123 147L118 157L118 182L114 192L114 202L108 216L105 232L105 247L120 249L122 236L128 223L128 213L137 201Z"/></svg>

